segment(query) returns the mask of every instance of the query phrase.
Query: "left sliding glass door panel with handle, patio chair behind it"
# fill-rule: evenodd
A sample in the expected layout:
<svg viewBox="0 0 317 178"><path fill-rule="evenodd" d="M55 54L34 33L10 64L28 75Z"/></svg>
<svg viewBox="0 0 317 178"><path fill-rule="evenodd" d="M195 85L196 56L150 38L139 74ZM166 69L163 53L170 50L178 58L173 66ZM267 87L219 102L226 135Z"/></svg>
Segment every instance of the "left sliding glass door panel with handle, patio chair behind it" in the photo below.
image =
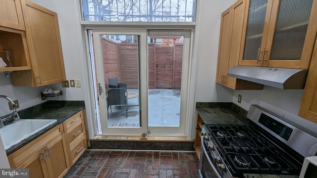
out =
<svg viewBox="0 0 317 178"><path fill-rule="evenodd" d="M102 134L142 134L140 35L93 32L96 93ZM99 128L99 127L98 127Z"/></svg>

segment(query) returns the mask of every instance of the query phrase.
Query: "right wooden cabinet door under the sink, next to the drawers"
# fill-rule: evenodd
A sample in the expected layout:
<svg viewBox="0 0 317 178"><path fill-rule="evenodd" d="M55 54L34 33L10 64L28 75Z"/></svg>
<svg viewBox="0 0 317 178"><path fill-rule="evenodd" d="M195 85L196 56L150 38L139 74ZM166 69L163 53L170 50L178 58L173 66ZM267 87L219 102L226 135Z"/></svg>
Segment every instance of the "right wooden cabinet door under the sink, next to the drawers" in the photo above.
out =
<svg viewBox="0 0 317 178"><path fill-rule="evenodd" d="M47 167L50 178L61 178L70 169L65 135L58 136L46 148Z"/></svg>

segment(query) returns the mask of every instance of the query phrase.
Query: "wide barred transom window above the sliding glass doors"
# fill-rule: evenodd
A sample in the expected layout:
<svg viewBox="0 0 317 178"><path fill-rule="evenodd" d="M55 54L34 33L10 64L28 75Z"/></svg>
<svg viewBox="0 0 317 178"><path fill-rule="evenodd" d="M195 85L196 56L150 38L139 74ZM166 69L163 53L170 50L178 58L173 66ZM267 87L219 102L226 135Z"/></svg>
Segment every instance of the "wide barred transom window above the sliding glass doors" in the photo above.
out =
<svg viewBox="0 0 317 178"><path fill-rule="evenodd" d="M193 22L196 0L82 0L85 21Z"/></svg>

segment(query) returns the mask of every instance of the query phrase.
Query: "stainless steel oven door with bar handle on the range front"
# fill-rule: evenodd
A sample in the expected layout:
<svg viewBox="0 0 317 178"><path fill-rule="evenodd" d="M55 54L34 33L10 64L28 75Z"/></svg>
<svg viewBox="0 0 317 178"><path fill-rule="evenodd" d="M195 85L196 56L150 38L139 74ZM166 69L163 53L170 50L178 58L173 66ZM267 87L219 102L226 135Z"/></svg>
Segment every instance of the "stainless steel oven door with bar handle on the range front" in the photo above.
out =
<svg viewBox="0 0 317 178"><path fill-rule="evenodd" d="M211 159L208 155L206 145L202 136L202 145L200 150L200 164L199 164L199 174L201 178L222 178L217 172L217 169L213 166Z"/></svg>

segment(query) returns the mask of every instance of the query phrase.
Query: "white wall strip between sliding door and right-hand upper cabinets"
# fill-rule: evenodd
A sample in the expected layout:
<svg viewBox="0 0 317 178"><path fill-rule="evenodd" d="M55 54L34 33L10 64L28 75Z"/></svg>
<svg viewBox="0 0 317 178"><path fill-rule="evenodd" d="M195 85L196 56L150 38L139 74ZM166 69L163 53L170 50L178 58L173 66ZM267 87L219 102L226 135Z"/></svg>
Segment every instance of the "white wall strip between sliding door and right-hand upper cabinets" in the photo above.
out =
<svg viewBox="0 0 317 178"><path fill-rule="evenodd" d="M198 22L195 101L232 101L233 90L216 85L221 13L236 0L202 0Z"/></svg>

